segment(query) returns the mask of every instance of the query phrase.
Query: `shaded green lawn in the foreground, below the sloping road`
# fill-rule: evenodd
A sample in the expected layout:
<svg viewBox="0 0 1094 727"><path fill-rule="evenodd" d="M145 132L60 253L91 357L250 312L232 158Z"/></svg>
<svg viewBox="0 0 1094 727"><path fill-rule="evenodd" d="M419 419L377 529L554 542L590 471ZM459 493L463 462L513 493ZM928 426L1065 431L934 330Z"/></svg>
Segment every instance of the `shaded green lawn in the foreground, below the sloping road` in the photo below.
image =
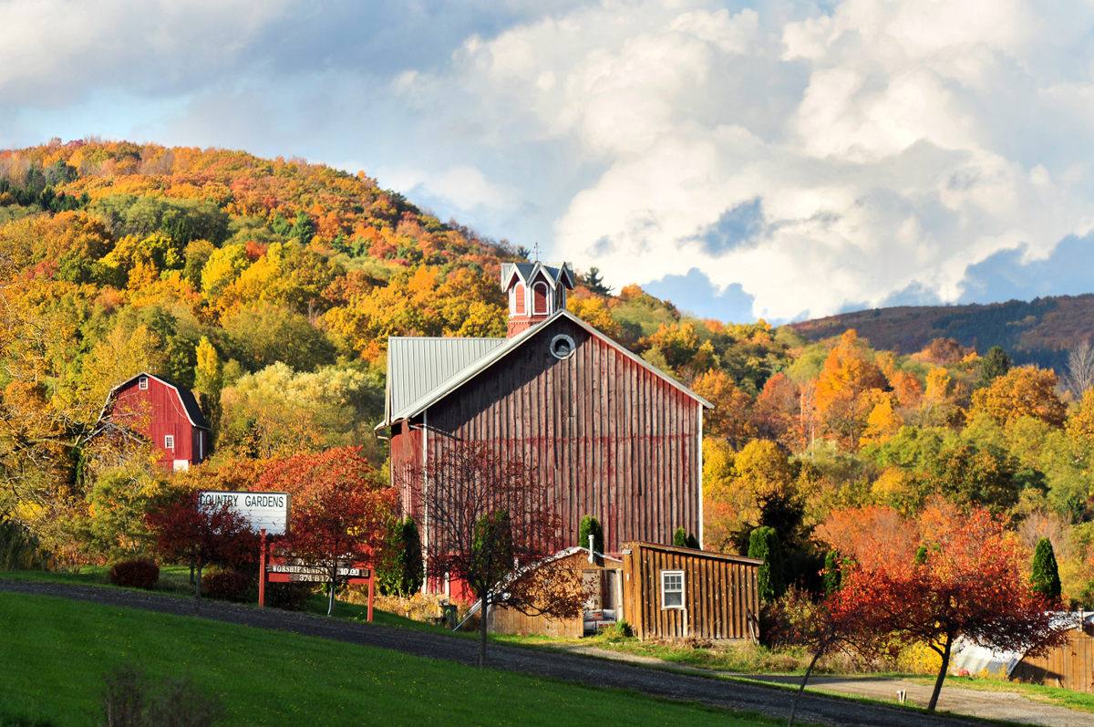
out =
<svg viewBox="0 0 1094 727"><path fill-rule="evenodd" d="M776 725L701 705L186 616L0 593L0 724L101 720L124 663L191 677L232 725Z"/></svg>

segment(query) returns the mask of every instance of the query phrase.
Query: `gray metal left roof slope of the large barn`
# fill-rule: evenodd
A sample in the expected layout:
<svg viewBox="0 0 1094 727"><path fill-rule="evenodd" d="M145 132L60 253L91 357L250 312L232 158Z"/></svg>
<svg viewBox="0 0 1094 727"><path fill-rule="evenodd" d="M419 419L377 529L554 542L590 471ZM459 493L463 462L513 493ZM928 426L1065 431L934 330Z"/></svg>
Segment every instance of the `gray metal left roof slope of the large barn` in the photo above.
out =
<svg viewBox="0 0 1094 727"><path fill-rule="evenodd" d="M394 422L393 415L507 343L508 338L388 338L385 422Z"/></svg>

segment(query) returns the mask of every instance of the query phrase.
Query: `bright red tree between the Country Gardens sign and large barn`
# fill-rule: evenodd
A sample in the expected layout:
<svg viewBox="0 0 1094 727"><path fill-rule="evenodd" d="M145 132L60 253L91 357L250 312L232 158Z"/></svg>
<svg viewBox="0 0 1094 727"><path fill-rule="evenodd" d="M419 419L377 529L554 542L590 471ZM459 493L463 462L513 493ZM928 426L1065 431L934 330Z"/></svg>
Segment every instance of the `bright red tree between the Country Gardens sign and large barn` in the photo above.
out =
<svg viewBox="0 0 1094 727"><path fill-rule="evenodd" d="M289 533L277 552L324 574L330 586L327 615L334 613L335 591L345 580L339 569L359 561L375 567L396 512L397 491L377 489L373 480L360 448L344 447L271 463L255 485L256 491L292 495Z"/></svg>

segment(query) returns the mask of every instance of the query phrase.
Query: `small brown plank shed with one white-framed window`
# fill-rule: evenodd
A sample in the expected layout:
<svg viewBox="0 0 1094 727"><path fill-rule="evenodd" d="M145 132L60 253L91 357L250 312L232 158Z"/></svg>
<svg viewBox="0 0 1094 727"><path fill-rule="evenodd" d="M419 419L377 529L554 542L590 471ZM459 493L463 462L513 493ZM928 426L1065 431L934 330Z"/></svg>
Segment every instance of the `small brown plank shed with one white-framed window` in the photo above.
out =
<svg viewBox="0 0 1094 727"><path fill-rule="evenodd" d="M622 550L624 612L641 639L759 638L763 561L653 543Z"/></svg>

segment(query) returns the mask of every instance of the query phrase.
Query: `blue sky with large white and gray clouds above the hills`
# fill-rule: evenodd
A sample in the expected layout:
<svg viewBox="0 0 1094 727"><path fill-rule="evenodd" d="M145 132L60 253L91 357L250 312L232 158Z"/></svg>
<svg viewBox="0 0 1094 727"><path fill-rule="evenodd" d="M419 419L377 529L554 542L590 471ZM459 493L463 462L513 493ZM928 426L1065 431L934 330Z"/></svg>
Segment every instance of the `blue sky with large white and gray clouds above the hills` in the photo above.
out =
<svg viewBox="0 0 1094 727"><path fill-rule="evenodd" d="M1055 0L0 0L0 148L363 170L735 322L1076 295L1092 23Z"/></svg>

